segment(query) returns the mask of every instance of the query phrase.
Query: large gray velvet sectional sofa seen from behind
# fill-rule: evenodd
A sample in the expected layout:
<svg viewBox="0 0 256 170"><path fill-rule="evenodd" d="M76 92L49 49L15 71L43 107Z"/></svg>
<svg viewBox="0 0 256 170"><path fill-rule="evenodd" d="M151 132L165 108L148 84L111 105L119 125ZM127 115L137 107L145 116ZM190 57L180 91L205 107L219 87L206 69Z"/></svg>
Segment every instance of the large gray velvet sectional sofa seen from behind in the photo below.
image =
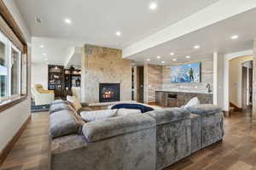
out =
<svg viewBox="0 0 256 170"><path fill-rule="evenodd" d="M160 170L224 136L223 113L214 105L86 123L67 105L55 102L49 111L53 170Z"/></svg>

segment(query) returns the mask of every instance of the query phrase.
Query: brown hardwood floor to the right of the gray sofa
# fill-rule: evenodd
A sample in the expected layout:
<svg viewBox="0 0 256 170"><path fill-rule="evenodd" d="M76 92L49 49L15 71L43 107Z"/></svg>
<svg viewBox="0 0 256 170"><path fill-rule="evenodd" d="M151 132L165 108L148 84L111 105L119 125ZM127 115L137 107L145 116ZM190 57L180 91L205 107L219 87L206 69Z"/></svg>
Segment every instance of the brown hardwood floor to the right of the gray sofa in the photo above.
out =
<svg viewBox="0 0 256 170"><path fill-rule="evenodd" d="M225 117L222 143L212 144L165 170L256 170L256 122L251 111Z"/></svg>

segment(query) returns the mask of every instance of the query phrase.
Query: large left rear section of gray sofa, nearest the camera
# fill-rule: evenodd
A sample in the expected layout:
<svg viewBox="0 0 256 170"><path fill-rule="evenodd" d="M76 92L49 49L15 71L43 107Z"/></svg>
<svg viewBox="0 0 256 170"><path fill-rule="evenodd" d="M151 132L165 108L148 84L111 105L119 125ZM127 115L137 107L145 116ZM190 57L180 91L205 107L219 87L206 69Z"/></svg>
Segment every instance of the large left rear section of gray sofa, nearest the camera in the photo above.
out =
<svg viewBox="0 0 256 170"><path fill-rule="evenodd" d="M147 115L86 123L53 140L52 169L155 169L155 121Z"/></svg>

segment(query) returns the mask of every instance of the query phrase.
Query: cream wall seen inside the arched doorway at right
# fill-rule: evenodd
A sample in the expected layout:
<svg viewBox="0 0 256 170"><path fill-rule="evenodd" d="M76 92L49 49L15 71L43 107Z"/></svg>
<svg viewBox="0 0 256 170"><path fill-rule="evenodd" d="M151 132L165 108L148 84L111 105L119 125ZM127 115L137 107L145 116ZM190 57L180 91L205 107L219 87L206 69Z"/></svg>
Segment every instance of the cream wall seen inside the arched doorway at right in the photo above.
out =
<svg viewBox="0 0 256 170"><path fill-rule="evenodd" d="M230 102L242 107L242 63L253 60L253 56L244 56L230 60Z"/></svg>

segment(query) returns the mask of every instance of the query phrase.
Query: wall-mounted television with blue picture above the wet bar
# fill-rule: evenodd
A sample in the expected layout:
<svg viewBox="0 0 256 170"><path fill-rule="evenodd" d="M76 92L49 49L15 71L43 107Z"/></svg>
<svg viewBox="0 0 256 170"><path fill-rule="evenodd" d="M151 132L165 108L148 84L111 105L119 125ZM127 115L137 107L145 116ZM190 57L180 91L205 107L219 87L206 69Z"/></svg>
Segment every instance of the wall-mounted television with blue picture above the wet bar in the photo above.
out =
<svg viewBox="0 0 256 170"><path fill-rule="evenodd" d="M171 82L201 82L201 62L172 66Z"/></svg>

